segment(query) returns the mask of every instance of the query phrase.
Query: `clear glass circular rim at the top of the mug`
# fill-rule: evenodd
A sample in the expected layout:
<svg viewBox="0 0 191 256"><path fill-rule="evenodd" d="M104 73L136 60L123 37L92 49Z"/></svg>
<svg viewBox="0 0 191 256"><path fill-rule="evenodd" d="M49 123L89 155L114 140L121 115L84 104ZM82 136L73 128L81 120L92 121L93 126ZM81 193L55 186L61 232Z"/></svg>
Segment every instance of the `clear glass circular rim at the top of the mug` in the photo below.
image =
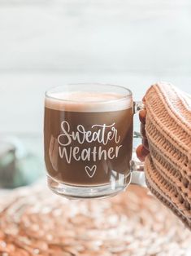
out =
<svg viewBox="0 0 191 256"><path fill-rule="evenodd" d="M89 103L93 103L93 102L95 102L97 104L98 103L107 103L107 102L111 103L111 102L115 102L115 101L119 101L119 100L123 100L123 99L132 98L132 90L128 89L125 86L119 86L119 85L115 85L115 84L102 83L102 82L79 82L79 83L68 83L68 84L63 85L63 86L90 86L90 85L91 86L108 86L108 87L111 86L113 88L118 88L118 89L124 90L128 94L122 95L119 99L89 100ZM55 99L55 100L59 100L59 101L63 101L63 102L70 102L70 103L81 102L81 99L62 99L62 98L50 95L50 94L54 93L54 90L59 89L59 88L61 89L63 86L54 86L54 87L51 87L50 89L46 90L46 92L45 92L46 98L48 98L48 99ZM62 92L62 90L60 90L60 92Z"/></svg>

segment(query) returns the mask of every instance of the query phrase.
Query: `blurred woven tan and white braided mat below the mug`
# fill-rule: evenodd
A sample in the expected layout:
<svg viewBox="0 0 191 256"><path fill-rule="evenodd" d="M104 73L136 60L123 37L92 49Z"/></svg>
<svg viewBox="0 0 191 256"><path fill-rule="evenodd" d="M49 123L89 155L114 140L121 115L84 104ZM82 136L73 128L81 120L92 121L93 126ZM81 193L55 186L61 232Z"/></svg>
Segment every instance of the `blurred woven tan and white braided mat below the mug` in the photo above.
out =
<svg viewBox="0 0 191 256"><path fill-rule="evenodd" d="M191 233L148 190L68 201L44 184L0 197L2 256L191 255Z"/></svg>

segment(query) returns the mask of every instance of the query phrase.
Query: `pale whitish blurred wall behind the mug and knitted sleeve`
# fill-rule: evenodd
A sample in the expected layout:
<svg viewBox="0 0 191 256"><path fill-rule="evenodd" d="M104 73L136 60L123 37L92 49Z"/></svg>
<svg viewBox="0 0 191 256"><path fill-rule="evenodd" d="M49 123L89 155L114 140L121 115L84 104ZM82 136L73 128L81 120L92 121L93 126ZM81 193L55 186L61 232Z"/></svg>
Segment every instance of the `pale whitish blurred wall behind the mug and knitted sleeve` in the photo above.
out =
<svg viewBox="0 0 191 256"><path fill-rule="evenodd" d="M0 0L0 32L0 138L20 139L34 165L51 86L108 82L139 100L163 80L191 93L189 0Z"/></svg>

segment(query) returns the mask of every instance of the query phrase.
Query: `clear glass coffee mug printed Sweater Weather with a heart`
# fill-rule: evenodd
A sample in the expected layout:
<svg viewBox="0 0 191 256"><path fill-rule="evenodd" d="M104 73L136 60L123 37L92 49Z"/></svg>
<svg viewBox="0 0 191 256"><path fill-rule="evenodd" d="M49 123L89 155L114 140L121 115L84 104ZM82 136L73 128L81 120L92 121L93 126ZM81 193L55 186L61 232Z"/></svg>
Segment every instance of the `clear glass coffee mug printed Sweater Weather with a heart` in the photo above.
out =
<svg viewBox="0 0 191 256"><path fill-rule="evenodd" d="M123 86L71 84L46 91L44 148L49 188L68 198L114 196L144 184L132 161L133 115L143 108Z"/></svg>

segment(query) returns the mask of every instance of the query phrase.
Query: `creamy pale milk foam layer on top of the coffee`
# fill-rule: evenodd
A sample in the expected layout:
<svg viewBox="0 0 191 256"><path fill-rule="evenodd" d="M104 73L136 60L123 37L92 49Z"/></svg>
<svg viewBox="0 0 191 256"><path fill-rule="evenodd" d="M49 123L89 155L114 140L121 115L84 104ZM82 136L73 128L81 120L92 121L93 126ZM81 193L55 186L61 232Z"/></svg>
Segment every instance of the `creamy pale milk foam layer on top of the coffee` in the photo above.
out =
<svg viewBox="0 0 191 256"><path fill-rule="evenodd" d="M46 97L46 108L74 112L107 112L132 108L132 97L114 93L62 92Z"/></svg>

